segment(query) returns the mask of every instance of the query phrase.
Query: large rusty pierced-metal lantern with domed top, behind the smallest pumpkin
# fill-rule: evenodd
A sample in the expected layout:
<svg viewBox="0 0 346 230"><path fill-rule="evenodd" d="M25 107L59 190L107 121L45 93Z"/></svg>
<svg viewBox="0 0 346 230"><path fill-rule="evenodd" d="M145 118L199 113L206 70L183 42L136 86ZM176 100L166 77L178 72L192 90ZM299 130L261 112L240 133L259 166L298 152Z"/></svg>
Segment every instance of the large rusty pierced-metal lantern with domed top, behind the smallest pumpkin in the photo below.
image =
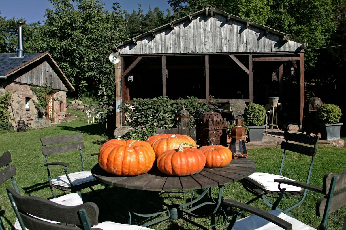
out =
<svg viewBox="0 0 346 230"><path fill-rule="evenodd" d="M209 146L222 144L227 146L226 135L222 135L226 130L226 120L218 112L212 112L214 106L211 97L208 108L209 112L202 113L196 123L196 142L199 146ZM226 133L225 133L226 134Z"/></svg>

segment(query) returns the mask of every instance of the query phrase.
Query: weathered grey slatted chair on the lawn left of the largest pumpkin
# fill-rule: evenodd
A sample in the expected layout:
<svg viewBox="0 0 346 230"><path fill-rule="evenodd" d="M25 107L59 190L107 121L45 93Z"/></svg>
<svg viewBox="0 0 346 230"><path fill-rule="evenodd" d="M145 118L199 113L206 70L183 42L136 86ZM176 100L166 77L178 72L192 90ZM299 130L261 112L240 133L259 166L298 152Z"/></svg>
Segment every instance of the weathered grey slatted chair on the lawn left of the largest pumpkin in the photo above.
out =
<svg viewBox="0 0 346 230"><path fill-rule="evenodd" d="M83 139L83 133L77 133L73 136L59 135L52 138L41 137L40 139L43 145L42 153L46 158L46 163L44 164L44 166L47 167L48 182L54 197L56 196L53 191L53 188L60 189L63 191L69 191L72 193L81 191L82 189L85 189L85 188L90 188L91 191L93 191L95 194L99 193L99 192L96 192L92 188L92 186L100 184L101 181L95 179L92 176L91 171L85 171L84 169L84 162L83 162L84 157L82 154L84 143L81 142L82 139ZM57 144L60 144L60 145L57 145ZM52 154L58 154L58 153L64 154L70 151L79 152L80 158L81 158L82 171L69 172L68 171L68 166L70 165L69 163L48 161L48 156ZM49 166L60 166L60 167L63 166L64 167L63 171L65 172L65 175L52 178ZM108 185L106 185L104 189L106 189L107 187ZM101 191L103 191L104 189L102 189Z"/></svg>

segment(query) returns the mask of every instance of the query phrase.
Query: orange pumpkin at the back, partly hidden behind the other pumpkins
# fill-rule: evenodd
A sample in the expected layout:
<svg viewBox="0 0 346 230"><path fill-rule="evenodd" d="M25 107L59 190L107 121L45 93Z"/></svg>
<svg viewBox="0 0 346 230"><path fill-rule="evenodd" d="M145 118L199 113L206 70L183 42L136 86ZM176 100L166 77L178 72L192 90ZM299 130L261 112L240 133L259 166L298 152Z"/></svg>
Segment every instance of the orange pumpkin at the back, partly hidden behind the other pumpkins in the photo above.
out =
<svg viewBox="0 0 346 230"><path fill-rule="evenodd" d="M160 156L166 150L177 149L179 144L189 143L195 145L192 137L183 134L156 134L147 139L147 142L153 147L156 157ZM197 148L193 146L192 148Z"/></svg>

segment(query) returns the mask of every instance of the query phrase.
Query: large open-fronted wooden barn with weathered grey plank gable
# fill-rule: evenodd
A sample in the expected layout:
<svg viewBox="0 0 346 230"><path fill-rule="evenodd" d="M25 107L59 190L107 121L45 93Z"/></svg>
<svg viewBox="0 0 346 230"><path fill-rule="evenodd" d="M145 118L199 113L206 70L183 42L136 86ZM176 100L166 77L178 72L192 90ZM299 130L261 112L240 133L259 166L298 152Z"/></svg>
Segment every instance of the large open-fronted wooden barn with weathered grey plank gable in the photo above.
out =
<svg viewBox="0 0 346 230"><path fill-rule="evenodd" d="M289 34L209 7L117 44L116 106L133 98L209 96L268 103L302 123L304 48ZM124 116L116 113L116 127Z"/></svg>

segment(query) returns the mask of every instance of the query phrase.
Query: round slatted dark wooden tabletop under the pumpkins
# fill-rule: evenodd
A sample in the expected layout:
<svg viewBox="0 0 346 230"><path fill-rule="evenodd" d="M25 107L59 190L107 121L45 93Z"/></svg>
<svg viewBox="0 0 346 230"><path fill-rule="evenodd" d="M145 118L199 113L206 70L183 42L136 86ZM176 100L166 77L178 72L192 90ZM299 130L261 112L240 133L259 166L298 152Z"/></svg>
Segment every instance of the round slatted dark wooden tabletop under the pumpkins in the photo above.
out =
<svg viewBox="0 0 346 230"><path fill-rule="evenodd" d="M191 176L169 176L154 167L147 173L132 177L116 176L96 164L91 172L95 178L113 186L148 191L193 190L215 187L243 179L252 174L256 164L251 158L233 159L222 168L204 168Z"/></svg>

